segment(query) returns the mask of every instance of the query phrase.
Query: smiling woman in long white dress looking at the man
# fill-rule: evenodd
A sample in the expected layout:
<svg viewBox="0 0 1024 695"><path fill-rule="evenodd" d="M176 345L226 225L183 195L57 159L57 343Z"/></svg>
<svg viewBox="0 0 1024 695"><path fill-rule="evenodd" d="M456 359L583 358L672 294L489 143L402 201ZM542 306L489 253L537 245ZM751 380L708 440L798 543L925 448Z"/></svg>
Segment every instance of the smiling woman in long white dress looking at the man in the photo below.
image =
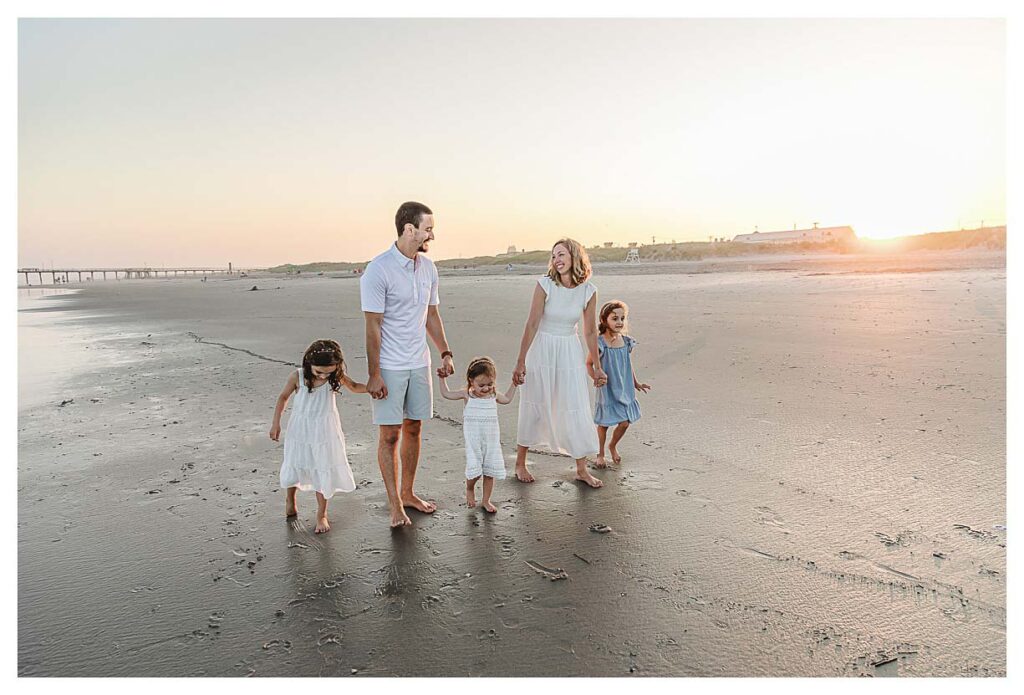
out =
<svg viewBox="0 0 1024 695"><path fill-rule="evenodd" d="M607 377L597 353L597 288L590 283L590 258L571 238L551 249L548 274L537 281L529 318L522 332L513 381L519 395L518 449L515 474L534 482L526 469L530 447L564 453L575 460L577 480L591 487L603 483L587 470L587 457L597 453L597 431L587 388L587 362L578 324L594 362L594 386Z"/></svg>

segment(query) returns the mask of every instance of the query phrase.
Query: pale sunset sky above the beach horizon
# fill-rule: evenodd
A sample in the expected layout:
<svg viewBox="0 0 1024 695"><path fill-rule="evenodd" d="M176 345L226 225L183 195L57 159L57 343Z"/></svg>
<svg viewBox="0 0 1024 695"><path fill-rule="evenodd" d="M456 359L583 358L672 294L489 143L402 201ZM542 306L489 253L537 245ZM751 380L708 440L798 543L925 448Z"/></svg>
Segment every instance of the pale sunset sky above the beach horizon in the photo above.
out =
<svg viewBox="0 0 1024 695"><path fill-rule="evenodd" d="M22 19L18 265L1006 223L1000 19Z"/></svg>

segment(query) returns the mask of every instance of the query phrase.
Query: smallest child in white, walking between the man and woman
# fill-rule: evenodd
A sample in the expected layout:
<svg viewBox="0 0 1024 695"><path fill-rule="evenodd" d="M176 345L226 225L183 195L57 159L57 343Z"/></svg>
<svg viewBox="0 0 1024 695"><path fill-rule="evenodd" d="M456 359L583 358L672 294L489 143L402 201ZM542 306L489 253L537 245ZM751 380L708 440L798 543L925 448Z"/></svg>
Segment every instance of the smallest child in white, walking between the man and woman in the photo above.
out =
<svg viewBox="0 0 1024 695"><path fill-rule="evenodd" d="M490 357L476 357L466 368L466 388L450 391L438 370L441 395L449 400L463 400L462 432L466 441L466 505L476 507L476 481L483 477L483 509L494 514L498 508L490 504L495 479L505 479L505 460L502 458L501 432L498 427L498 404L507 405L515 397L513 382L504 394L495 389L498 367Z"/></svg>

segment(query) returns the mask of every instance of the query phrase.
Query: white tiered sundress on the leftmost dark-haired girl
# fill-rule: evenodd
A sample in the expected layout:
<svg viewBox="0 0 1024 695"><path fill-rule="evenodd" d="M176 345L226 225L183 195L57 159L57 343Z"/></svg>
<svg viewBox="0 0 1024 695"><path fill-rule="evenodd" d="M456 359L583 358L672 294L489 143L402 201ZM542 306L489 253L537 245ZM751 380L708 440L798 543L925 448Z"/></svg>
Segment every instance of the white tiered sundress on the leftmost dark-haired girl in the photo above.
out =
<svg viewBox="0 0 1024 695"><path fill-rule="evenodd" d="M330 499L335 492L355 489L345 451L345 433L331 384L309 392L299 370L299 388L292 398L292 414L285 432L285 463L281 486L314 490Z"/></svg>

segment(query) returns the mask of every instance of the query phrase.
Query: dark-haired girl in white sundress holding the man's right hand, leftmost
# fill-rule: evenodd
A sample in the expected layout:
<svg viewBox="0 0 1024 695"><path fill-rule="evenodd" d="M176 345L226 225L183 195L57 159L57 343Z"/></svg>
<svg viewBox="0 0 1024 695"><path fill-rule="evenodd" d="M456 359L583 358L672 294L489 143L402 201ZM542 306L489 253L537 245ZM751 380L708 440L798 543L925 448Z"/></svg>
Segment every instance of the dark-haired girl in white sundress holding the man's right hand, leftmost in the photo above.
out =
<svg viewBox="0 0 1024 695"><path fill-rule="evenodd" d="M278 441L281 415L294 394L285 435L285 463L281 466L281 486L287 489L285 515L298 514L296 491L315 490L316 533L331 530L327 501L335 492L355 489L345 452L345 433L335 403L335 394L342 385L352 393L367 392L366 384L354 382L345 374L345 358L338 343L314 341L302 355L302 366L292 373L278 396L270 426L270 439Z"/></svg>

